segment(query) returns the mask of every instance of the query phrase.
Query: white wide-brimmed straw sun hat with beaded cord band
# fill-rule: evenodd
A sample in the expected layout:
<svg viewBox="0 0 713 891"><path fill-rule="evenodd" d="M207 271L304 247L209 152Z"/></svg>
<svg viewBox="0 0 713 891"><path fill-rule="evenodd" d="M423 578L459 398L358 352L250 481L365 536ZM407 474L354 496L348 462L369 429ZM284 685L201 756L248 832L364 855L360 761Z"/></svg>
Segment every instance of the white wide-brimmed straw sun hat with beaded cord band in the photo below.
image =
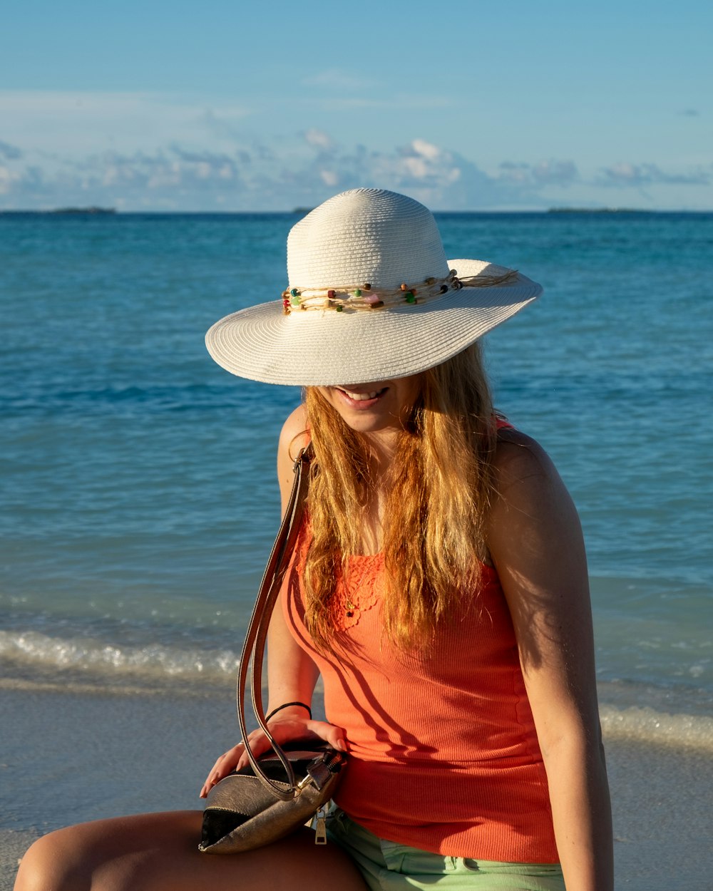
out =
<svg viewBox="0 0 713 891"><path fill-rule="evenodd" d="M282 298L206 334L217 364L291 386L364 384L441 364L542 293L503 266L447 260L430 210L353 189L294 225Z"/></svg>

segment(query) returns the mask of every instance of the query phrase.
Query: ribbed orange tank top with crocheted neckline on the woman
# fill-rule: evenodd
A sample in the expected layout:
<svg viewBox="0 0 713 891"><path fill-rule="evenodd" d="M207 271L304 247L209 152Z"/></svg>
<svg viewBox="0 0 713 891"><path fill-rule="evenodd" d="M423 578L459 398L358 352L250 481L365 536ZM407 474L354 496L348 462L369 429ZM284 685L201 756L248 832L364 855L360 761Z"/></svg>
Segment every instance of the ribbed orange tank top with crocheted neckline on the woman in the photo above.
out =
<svg viewBox="0 0 713 891"><path fill-rule="evenodd" d="M324 680L327 720L350 754L335 797L380 838L437 854L557 862L542 755L495 569L439 625L428 658L383 633L381 555L350 558L337 583L336 655L317 651L301 584L308 532L283 610Z"/></svg>

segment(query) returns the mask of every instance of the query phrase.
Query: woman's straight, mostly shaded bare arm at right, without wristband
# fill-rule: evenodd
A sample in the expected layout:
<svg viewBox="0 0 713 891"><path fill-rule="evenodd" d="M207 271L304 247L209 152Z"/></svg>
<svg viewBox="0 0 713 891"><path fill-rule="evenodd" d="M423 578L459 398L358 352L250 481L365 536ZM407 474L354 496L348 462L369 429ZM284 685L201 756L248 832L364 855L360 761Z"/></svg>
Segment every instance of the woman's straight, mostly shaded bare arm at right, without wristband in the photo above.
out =
<svg viewBox="0 0 713 891"><path fill-rule="evenodd" d="M545 452L514 431L498 446L496 490L488 549L512 614L567 891L611 891L611 805L577 511Z"/></svg>

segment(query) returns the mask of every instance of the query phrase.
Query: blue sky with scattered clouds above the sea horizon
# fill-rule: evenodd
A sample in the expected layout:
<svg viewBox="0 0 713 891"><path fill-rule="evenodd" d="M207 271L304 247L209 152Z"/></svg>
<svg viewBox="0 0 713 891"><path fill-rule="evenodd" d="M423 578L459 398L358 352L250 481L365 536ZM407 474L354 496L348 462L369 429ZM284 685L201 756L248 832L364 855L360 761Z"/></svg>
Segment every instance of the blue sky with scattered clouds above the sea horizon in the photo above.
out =
<svg viewBox="0 0 713 891"><path fill-rule="evenodd" d="M11 0L0 208L713 209L713 4Z"/></svg>

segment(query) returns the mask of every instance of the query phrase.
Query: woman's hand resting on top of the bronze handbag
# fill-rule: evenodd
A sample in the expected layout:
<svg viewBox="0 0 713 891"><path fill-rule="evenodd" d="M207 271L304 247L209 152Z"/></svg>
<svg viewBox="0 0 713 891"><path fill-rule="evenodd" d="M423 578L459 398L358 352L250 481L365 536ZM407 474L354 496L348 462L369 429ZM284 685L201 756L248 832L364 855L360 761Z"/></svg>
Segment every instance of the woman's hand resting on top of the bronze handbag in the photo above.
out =
<svg viewBox="0 0 713 891"><path fill-rule="evenodd" d="M291 714L291 711L288 709L283 709L278 715L275 715L275 718L267 726L280 745L290 740L319 740L328 742L333 748L340 749L341 752L347 751L343 730L325 721L312 721L299 708L295 709L295 714ZM265 733L259 728L250 733L248 742L250 743L252 754L256 757L262 755L263 752L270 748L270 743ZM224 755L217 759L209 772L201 789L201 798L205 798L208 795L210 789L216 785L217 781L222 780L228 773L241 770L247 764L250 764L250 760L242 742L239 742L233 748L229 748Z"/></svg>

